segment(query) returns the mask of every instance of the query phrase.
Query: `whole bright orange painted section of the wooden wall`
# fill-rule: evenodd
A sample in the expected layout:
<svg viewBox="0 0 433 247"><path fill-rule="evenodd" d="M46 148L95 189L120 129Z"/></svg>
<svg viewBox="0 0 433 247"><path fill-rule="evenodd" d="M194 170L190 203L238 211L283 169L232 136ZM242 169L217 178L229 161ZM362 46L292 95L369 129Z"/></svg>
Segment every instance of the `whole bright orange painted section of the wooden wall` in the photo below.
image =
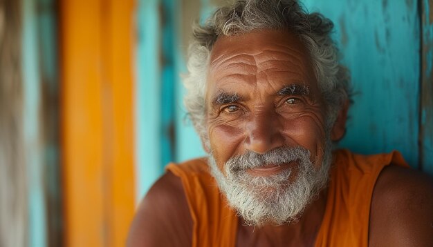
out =
<svg viewBox="0 0 433 247"><path fill-rule="evenodd" d="M60 5L65 246L124 246L135 201L132 0Z"/></svg>

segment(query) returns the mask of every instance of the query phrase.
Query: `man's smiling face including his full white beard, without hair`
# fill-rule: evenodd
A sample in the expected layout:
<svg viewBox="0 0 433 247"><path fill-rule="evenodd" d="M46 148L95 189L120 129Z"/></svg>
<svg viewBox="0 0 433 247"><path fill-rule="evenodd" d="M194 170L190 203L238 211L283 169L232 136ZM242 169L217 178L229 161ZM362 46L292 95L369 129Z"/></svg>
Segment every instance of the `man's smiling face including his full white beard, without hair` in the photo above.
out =
<svg viewBox="0 0 433 247"><path fill-rule="evenodd" d="M256 210L283 201L270 210L285 210L284 201L300 201L283 217L301 212L326 181L321 166L330 152L325 103L302 43L291 32L271 30L221 37L212 49L205 99L212 174L230 204L242 212L247 204ZM261 214L250 221L261 224L279 213Z"/></svg>

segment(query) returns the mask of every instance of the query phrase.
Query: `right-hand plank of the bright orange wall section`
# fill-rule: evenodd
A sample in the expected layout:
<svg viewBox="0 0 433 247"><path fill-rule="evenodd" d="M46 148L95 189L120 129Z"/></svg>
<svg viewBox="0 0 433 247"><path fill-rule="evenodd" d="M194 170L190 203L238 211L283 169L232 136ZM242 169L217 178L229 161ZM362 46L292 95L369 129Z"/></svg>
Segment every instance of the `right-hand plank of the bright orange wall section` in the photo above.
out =
<svg viewBox="0 0 433 247"><path fill-rule="evenodd" d="M129 224L135 205L135 181L133 179L133 1L111 0L109 6L109 31L104 37L104 55L112 92L111 115L113 117L113 176L111 184L110 242L125 246Z"/></svg>

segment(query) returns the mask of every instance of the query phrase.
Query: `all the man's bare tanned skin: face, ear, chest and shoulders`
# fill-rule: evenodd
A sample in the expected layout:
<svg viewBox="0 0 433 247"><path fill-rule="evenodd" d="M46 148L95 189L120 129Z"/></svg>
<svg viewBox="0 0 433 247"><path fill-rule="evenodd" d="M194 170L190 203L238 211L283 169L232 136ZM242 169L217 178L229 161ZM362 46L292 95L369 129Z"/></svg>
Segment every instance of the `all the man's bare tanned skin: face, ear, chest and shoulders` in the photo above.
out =
<svg viewBox="0 0 433 247"><path fill-rule="evenodd" d="M246 150L265 153L280 146L307 148L320 166L325 104L307 54L291 32L260 30L216 41L206 108L210 148L221 170ZM287 93L293 85L308 93ZM332 140L344 135L346 118L347 105ZM239 219L237 246L314 246L325 206L326 190L296 224L253 228ZM191 246L192 228L181 180L167 172L140 204L127 246ZM383 169L371 202L369 246L433 246L430 177L398 166Z"/></svg>

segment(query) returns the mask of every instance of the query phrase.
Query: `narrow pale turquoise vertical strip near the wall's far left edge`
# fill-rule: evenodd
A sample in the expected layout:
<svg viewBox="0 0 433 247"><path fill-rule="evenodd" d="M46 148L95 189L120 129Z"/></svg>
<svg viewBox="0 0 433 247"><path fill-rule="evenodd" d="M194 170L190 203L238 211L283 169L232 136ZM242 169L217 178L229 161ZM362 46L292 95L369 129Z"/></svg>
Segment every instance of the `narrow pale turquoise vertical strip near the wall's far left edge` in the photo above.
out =
<svg viewBox="0 0 433 247"><path fill-rule="evenodd" d="M24 0L22 61L24 81L24 140L28 168L29 239L32 247L44 247L46 240L46 203L41 137L41 81L39 73L39 42L36 1Z"/></svg>

